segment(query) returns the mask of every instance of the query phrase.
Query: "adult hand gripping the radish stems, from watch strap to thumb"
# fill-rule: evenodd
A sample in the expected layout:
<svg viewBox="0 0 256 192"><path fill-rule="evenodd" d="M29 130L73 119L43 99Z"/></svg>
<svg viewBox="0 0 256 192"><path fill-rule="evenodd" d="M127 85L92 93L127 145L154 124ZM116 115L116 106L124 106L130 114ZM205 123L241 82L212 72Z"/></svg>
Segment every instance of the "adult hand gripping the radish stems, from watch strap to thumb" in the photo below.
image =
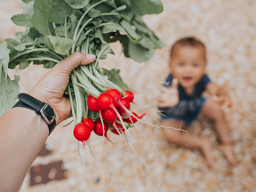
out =
<svg viewBox="0 0 256 192"><path fill-rule="evenodd" d="M56 113L57 125L72 116L70 100L63 97L69 82L69 75L79 65L87 65L95 61L94 54L75 52L57 63L45 76L29 91L29 95L42 102L49 103Z"/></svg>

